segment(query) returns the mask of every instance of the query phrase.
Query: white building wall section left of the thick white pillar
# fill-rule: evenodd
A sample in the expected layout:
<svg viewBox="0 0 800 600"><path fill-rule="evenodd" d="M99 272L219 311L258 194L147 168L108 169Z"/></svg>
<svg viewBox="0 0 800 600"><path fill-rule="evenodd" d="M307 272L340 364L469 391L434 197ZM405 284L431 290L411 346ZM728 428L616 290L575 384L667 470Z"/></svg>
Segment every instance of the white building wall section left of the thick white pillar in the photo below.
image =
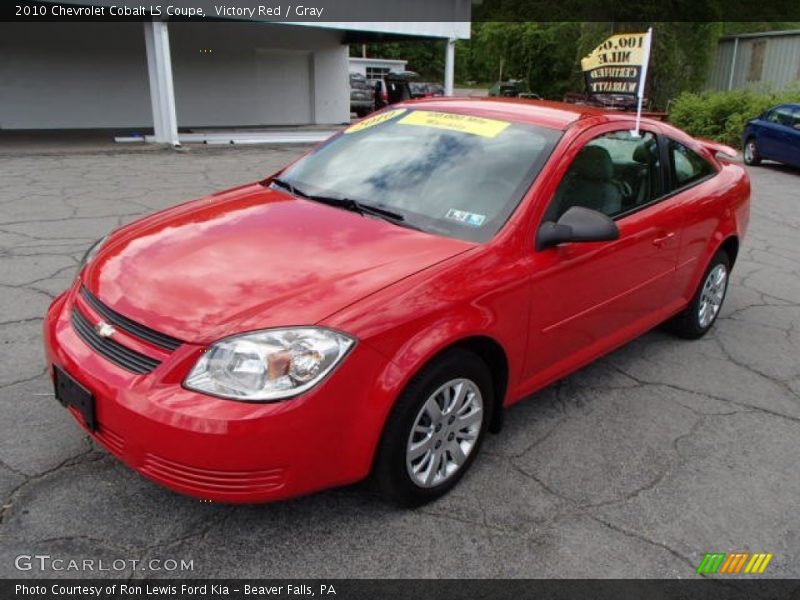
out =
<svg viewBox="0 0 800 600"><path fill-rule="evenodd" d="M152 126L141 23L0 24L0 127Z"/></svg>

